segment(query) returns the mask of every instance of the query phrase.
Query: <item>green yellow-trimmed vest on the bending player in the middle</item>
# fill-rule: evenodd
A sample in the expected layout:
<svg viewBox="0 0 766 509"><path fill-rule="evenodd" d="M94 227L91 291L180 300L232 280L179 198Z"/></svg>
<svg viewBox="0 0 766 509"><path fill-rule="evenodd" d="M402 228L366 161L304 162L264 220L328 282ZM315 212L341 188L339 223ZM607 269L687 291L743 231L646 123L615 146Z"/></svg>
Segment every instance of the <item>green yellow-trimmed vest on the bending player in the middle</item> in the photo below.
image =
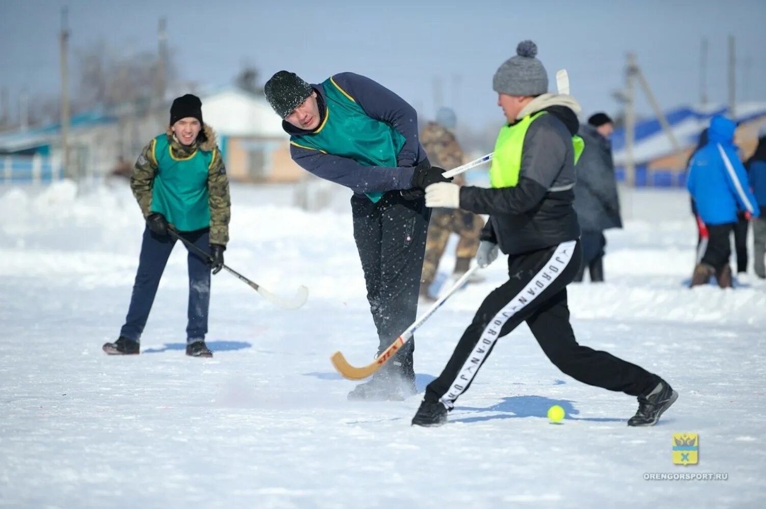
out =
<svg viewBox="0 0 766 509"><path fill-rule="evenodd" d="M325 90L325 119L316 131L290 136L290 143L325 154L353 159L364 166L397 166L404 136L385 122L373 119L332 77L322 83ZM365 193L377 202L383 193Z"/></svg>

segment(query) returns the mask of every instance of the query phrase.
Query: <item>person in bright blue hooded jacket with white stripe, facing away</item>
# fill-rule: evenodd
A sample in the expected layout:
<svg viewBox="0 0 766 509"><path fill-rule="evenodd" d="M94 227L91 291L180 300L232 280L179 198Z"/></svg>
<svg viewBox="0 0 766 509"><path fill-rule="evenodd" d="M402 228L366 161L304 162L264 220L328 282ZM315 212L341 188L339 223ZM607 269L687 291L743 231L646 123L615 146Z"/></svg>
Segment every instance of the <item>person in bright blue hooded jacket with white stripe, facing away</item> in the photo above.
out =
<svg viewBox="0 0 766 509"><path fill-rule="evenodd" d="M734 144L735 129L731 120L714 116L710 119L708 143L689 162L686 187L708 229L708 245L692 274L692 286L705 284L713 275L722 288L732 286L729 235L737 224L737 214L745 211L752 217L760 215Z"/></svg>

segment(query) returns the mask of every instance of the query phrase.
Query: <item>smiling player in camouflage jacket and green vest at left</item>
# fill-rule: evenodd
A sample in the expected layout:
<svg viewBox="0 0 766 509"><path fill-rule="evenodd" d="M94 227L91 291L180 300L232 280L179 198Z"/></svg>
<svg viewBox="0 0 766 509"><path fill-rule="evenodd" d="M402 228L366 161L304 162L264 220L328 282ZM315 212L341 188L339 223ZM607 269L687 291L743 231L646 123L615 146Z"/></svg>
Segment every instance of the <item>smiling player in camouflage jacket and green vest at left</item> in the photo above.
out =
<svg viewBox="0 0 766 509"><path fill-rule="evenodd" d="M229 240L229 183L213 129L202 122L202 103L186 94L173 101L170 124L139 155L130 178L133 195L146 218L136 284L119 339L103 345L111 355L138 354L141 333L178 232L201 250L188 250L188 325L186 354L212 357L205 344L210 307L210 272L221 270Z"/></svg>

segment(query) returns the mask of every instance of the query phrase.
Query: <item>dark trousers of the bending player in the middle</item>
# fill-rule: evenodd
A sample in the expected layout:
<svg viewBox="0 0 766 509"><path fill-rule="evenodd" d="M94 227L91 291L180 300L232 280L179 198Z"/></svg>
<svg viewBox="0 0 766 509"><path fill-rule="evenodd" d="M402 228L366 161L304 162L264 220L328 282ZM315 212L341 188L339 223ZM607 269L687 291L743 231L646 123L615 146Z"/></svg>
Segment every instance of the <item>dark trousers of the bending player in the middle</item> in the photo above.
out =
<svg viewBox="0 0 766 509"><path fill-rule="evenodd" d="M351 207L379 354L417 318L430 208L424 198L405 200L399 191L389 191L378 203L354 196ZM413 351L414 338L392 364L411 365Z"/></svg>

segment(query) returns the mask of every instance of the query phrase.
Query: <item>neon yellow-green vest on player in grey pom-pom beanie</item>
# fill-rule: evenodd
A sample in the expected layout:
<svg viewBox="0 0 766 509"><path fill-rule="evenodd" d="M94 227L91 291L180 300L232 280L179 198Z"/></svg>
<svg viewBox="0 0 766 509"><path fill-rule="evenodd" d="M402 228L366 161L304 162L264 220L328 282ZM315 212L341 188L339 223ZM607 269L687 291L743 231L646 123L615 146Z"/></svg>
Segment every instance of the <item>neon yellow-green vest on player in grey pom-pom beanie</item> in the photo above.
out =
<svg viewBox="0 0 766 509"><path fill-rule="evenodd" d="M522 168L522 150L524 138L529 126L538 116L547 112L541 111L527 115L512 126L503 126L497 135L492 166L489 167L489 182L493 188L513 188L519 183L519 171ZM575 148L575 165L580 159L585 142L578 136L572 136L572 147Z"/></svg>

